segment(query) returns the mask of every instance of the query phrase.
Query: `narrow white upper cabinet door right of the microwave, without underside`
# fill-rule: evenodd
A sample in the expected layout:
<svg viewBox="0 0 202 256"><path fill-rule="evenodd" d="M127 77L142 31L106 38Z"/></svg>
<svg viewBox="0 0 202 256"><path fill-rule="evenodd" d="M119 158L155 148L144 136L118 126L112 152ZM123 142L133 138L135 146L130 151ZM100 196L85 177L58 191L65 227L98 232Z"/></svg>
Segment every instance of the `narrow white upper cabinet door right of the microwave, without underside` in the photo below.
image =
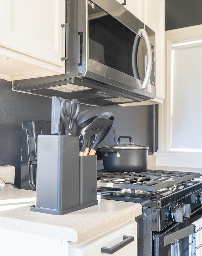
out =
<svg viewBox="0 0 202 256"><path fill-rule="evenodd" d="M165 98L165 1L145 0L145 24L156 37L156 90L154 101Z"/></svg>

